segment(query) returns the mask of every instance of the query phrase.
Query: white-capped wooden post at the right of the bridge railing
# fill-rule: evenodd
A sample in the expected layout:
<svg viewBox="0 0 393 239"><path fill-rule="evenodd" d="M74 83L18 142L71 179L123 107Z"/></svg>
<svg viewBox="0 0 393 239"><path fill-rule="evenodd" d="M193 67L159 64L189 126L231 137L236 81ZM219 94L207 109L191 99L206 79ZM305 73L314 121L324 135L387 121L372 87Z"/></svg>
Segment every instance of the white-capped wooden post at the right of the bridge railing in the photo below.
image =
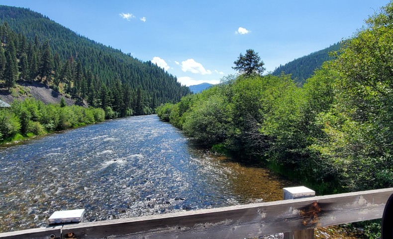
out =
<svg viewBox="0 0 393 239"><path fill-rule="evenodd" d="M315 196L315 191L305 186L284 187L283 191L284 191L284 198L283 198L284 200ZM313 239L313 238L314 238L314 229L284 233L284 239Z"/></svg>

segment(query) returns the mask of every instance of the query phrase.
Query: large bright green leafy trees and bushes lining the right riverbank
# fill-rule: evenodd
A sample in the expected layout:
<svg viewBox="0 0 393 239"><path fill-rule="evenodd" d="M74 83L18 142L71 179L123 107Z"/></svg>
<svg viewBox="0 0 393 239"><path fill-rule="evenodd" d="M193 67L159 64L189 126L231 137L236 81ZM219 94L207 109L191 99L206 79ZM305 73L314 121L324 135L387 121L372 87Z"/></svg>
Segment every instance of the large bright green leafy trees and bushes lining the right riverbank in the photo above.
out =
<svg viewBox="0 0 393 239"><path fill-rule="evenodd" d="M267 161L319 193L393 186L393 2L298 87L229 76L157 109L214 148Z"/></svg>

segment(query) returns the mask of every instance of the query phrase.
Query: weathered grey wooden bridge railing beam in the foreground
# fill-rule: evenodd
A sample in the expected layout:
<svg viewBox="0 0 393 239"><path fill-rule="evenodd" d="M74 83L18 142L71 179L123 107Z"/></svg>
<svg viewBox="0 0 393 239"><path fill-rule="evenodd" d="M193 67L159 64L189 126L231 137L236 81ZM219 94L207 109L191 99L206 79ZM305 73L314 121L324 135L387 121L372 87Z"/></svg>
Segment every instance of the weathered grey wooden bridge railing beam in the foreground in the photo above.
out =
<svg viewBox="0 0 393 239"><path fill-rule="evenodd" d="M252 238L382 218L393 188L1 233L1 239Z"/></svg>

